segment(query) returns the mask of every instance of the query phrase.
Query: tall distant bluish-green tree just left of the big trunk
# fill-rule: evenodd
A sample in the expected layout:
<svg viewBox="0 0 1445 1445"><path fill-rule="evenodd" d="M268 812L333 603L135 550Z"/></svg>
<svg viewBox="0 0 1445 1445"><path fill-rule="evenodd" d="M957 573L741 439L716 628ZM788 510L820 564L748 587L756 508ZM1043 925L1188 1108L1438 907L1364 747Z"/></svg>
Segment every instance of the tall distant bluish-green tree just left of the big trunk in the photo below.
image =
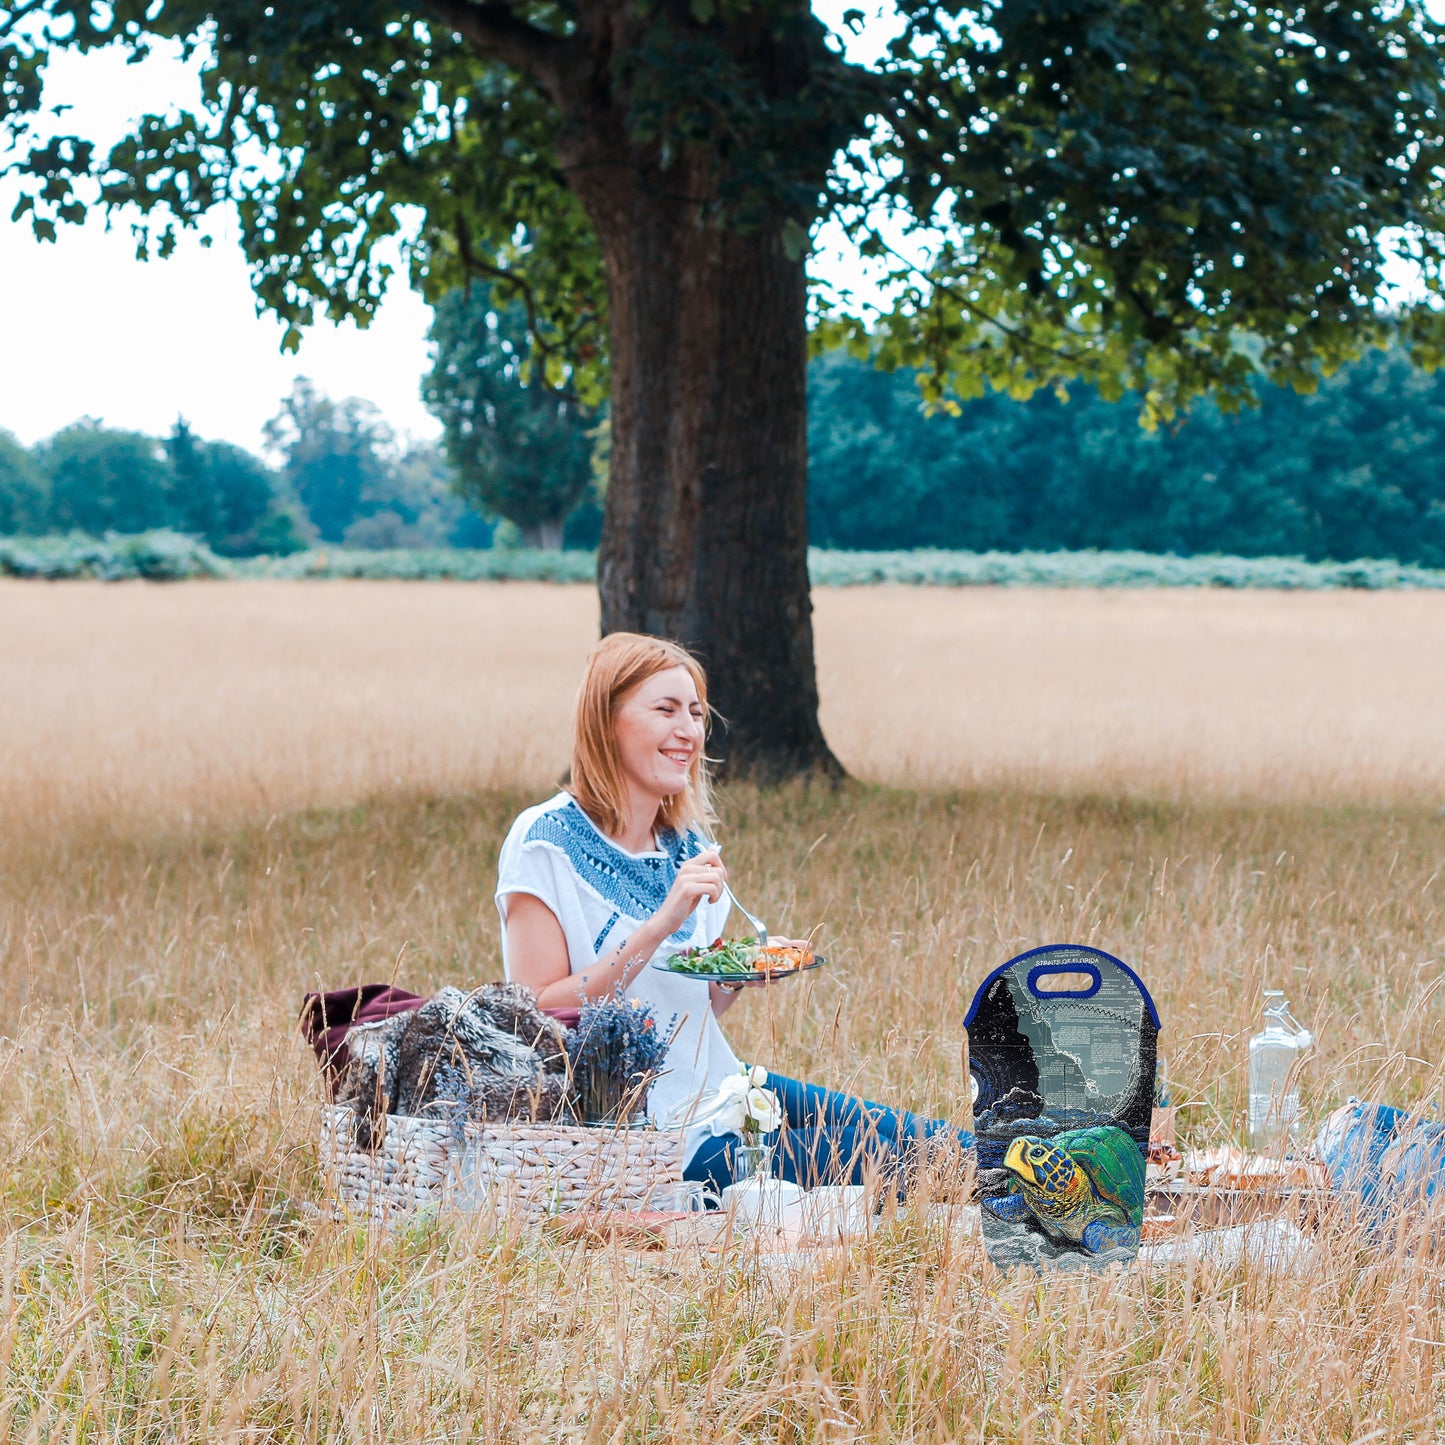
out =
<svg viewBox="0 0 1445 1445"><path fill-rule="evenodd" d="M442 423L455 487L506 517L526 546L561 546L592 486L595 416L527 364L527 318L477 283L444 296L423 396Z"/></svg>

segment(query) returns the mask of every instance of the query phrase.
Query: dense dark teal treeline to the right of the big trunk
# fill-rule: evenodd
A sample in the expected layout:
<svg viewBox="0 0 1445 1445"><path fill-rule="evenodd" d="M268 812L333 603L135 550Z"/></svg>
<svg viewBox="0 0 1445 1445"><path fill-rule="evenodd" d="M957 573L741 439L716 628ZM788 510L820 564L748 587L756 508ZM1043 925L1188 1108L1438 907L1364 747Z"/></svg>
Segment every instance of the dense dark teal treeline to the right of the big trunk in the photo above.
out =
<svg viewBox="0 0 1445 1445"><path fill-rule="evenodd" d="M831 548L1137 549L1445 566L1445 377L1371 351L1316 393L1267 387L1144 432L1087 387L928 416L909 373L811 373L809 532Z"/></svg>

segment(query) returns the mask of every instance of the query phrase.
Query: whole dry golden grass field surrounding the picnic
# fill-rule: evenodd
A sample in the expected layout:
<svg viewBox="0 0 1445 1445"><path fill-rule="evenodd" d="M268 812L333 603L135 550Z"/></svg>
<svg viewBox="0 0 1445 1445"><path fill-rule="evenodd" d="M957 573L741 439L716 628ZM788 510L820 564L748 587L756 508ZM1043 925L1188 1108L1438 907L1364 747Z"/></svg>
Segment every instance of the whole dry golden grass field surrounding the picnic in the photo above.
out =
<svg viewBox="0 0 1445 1445"><path fill-rule="evenodd" d="M301 993L497 975L497 844L594 608L0 585L0 1439L1445 1438L1445 1269L1342 1227L1040 1282L910 1209L801 1270L288 1212ZM1264 983L1321 1039L1314 1117L1439 1103L1445 598L816 608L860 782L724 809L744 902L831 964L740 1003L740 1052L958 1114L978 980L1075 939L1152 984L1194 1140L1238 1136Z"/></svg>

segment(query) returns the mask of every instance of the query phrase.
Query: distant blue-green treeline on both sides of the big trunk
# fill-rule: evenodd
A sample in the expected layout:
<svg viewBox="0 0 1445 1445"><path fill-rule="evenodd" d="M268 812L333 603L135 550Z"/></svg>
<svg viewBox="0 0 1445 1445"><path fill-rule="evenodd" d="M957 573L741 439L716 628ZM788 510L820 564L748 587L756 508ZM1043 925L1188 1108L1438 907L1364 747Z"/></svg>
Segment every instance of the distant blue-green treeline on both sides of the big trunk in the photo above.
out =
<svg viewBox="0 0 1445 1445"><path fill-rule="evenodd" d="M428 380L445 449L402 442L370 403L334 402L305 380L266 429L275 467L184 423L156 439L82 420L30 449L0 432L0 536L171 529L221 556L319 543L595 548L605 425L539 396L506 328L488 337L474 316L451 322L484 344L444 345ZM509 389L517 400L503 405ZM1445 373L1399 353L1370 353L1312 396L1270 389L1257 410L1199 406L1156 434L1140 429L1136 405L1082 387L1066 402L987 396L961 416L926 416L910 373L842 353L814 361L811 405L819 548L1445 568ZM558 475L529 483L549 467ZM566 509L555 520L542 493Z"/></svg>

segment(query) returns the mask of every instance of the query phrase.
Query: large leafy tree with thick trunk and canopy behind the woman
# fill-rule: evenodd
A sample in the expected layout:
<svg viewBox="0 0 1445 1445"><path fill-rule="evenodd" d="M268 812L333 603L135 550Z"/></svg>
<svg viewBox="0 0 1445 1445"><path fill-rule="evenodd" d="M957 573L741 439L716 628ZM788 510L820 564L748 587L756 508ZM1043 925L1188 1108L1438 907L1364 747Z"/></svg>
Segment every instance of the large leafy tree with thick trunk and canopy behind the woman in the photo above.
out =
<svg viewBox="0 0 1445 1445"><path fill-rule="evenodd" d="M55 49L153 36L204 48L202 113L105 155L22 137L40 234L94 198L163 253L234 201L298 327L370 314L403 233L434 295L510 285L553 380L610 368L604 629L695 644L720 746L762 775L831 764L805 512L824 215L894 290L821 309L944 405L1084 377L1168 418L1389 334L1438 360L1436 311L1379 306L1381 236L1442 289L1441 49L1410 4L902 0L857 66L805 0L17 0L12 124Z"/></svg>

